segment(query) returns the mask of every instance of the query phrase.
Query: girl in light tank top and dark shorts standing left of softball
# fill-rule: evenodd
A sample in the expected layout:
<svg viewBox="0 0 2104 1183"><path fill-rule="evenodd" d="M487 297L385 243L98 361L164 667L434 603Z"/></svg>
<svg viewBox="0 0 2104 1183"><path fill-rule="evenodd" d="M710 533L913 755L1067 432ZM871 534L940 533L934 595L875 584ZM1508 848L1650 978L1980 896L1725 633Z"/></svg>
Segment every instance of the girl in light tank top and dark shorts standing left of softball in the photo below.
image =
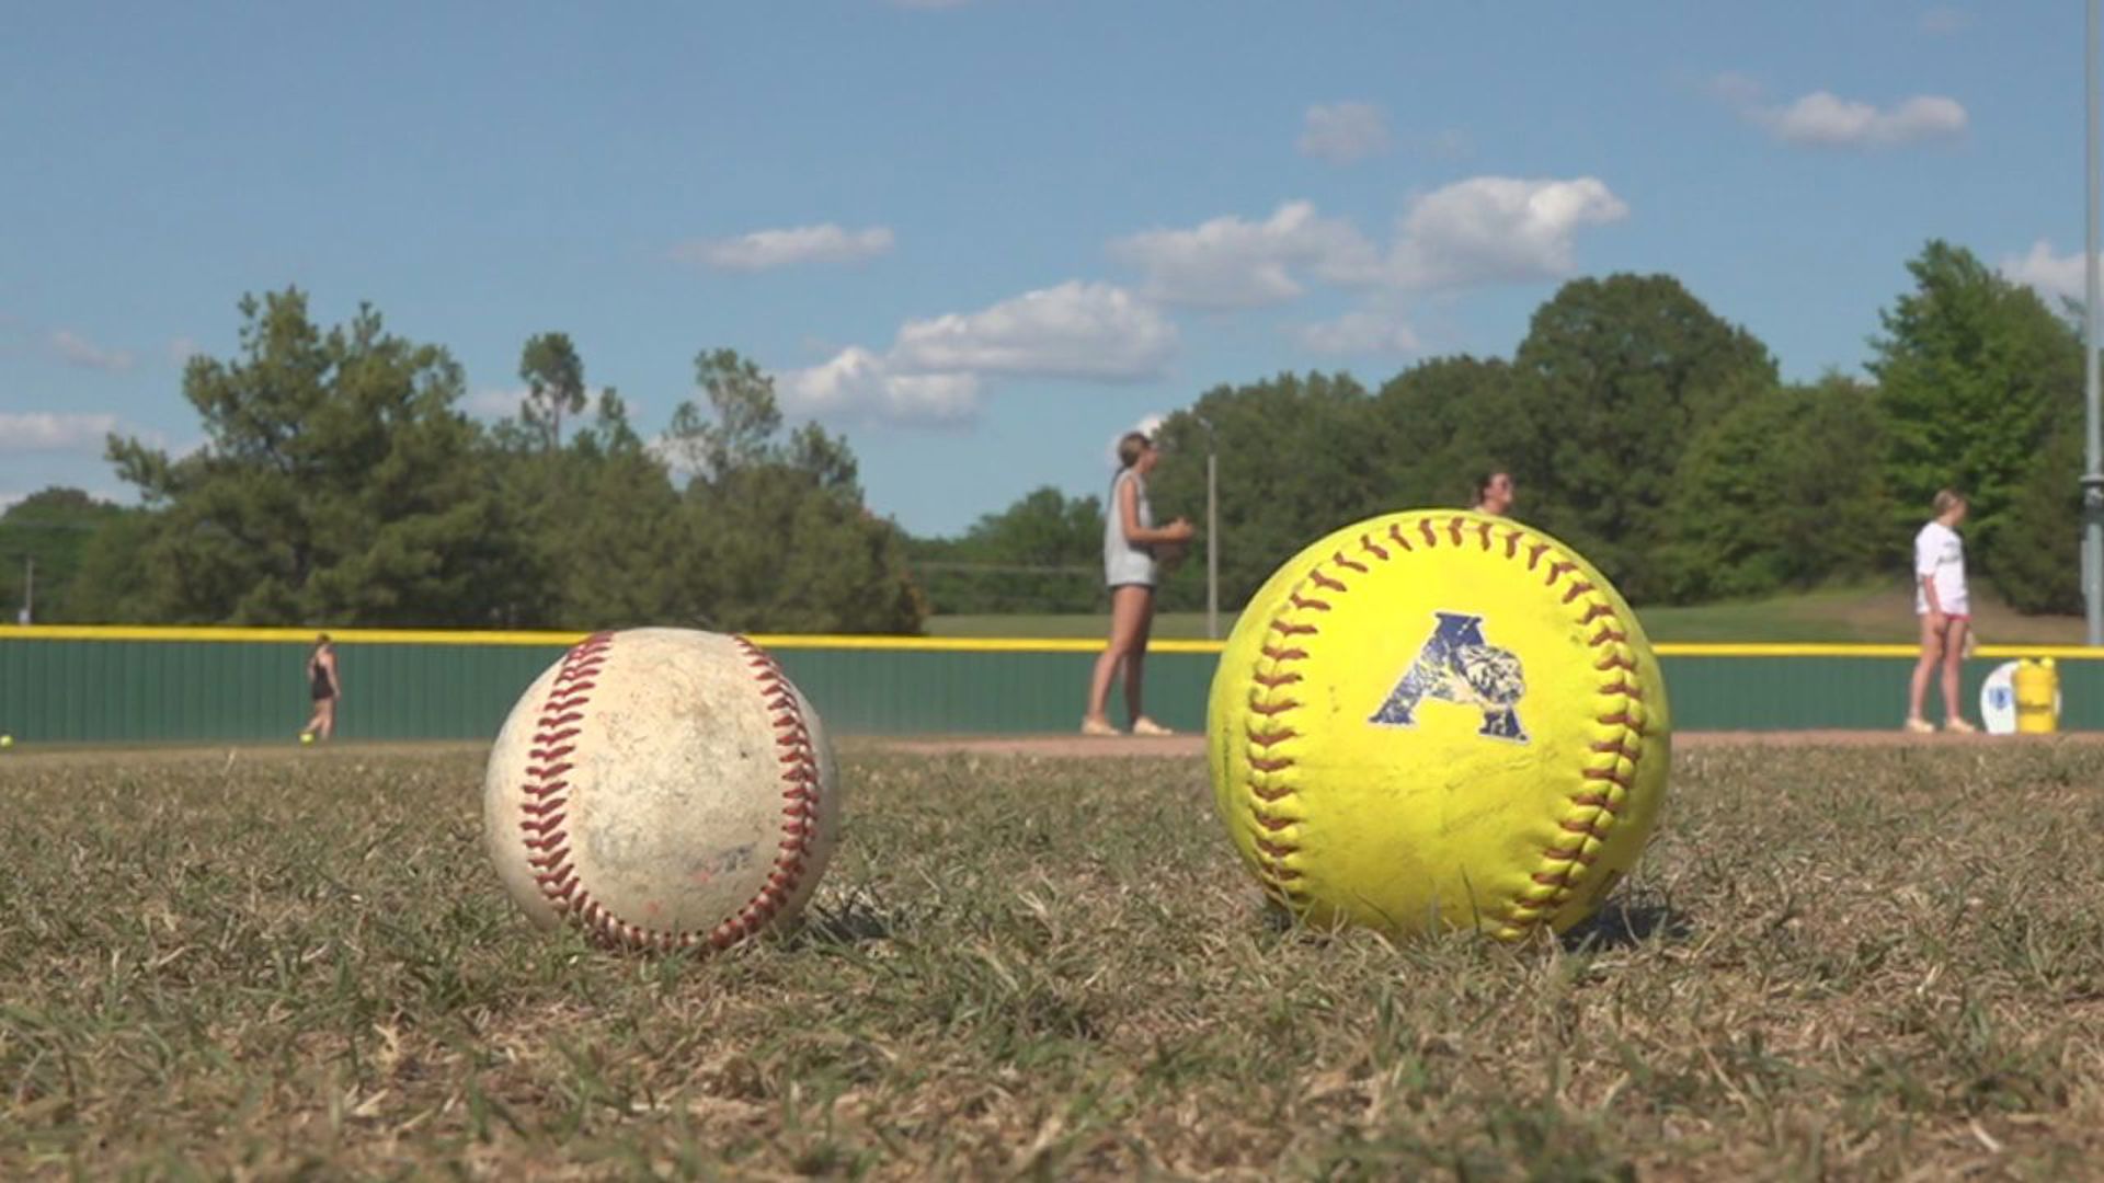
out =
<svg viewBox="0 0 2104 1183"><path fill-rule="evenodd" d="M1124 467L1111 482L1111 503L1105 505L1102 514L1102 581L1111 587L1111 642L1096 659L1096 671L1088 682L1088 714L1081 716L1081 735L1117 735L1105 711L1119 667L1126 674L1126 711L1132 718L1132 735L1170 735L1170 728L1147 718L1147 711L1140 709L1147 636L1155 621L1155 547L1189 543L1193 530L1191 522L1182 518L1168 526L1155 526L1153 509L1147 505L1147 474L1155 469L1159 455L1153 440L1140 432L1126 432L1117 440L1117 463Z"/></svg>

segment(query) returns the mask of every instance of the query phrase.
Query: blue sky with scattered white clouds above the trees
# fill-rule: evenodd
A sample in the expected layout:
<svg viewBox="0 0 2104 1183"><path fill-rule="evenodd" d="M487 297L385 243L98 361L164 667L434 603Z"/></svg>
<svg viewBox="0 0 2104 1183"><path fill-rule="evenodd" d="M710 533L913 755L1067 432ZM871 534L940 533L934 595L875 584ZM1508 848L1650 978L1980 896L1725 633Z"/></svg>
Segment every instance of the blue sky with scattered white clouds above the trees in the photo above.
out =
<svg viewBox="0 0 2104 1183"><path fill-rule="evenodd" d="M1220 381L1504 354L1668 272L1856 370L1927 238L2081 286L2079 4L11 4L0 499L200 442L242 293L469 408L576 341L646 432L734 347L953 533ZM1237 459L1235 463L1260 463Z"/></svg>

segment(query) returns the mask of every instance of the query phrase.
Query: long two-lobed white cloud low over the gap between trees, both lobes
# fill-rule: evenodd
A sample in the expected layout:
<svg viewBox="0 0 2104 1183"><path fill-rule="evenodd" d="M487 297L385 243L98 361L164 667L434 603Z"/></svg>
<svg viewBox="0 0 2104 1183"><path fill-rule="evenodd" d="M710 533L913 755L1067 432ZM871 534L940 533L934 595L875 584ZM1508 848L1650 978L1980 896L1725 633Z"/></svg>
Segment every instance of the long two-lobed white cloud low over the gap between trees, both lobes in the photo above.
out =
<svg viewBox="0 0 2104 1183"><path fill-rule="evenodd" d="M964 423L997 377L1140 381L1161 375L1176 326L1113 284L1071 280L980 312L909 320L890 349L861 345L774 373L789 415Z"/></svg>

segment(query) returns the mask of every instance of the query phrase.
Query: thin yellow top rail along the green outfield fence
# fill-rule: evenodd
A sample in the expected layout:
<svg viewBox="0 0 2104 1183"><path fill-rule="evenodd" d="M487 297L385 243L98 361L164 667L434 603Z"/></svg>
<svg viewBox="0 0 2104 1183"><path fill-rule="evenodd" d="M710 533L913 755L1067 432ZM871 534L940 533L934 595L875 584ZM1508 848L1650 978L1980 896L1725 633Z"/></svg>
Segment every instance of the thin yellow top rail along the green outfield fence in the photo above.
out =
<svg viewBox="0 0 2104 1183"><path fill-rule="evenodd" d="M473 629L326 629L341 644L518 644L560 648L583 631ZM143 640L143 642L274 642L311 644L318 629L168 627L168 625L0 625L8 640ZM964 638L964 636L825 636L749 634L766 648L894 650L894 653L1100 653L1100 638ZM1149 653L1220 653L1218 640L1155 640ZM1915 657L1910 644L1658 644L1660 657ZM2104 648L2079 644L1982 644L1982 659L2051 657L2104 661Z"/></svg>

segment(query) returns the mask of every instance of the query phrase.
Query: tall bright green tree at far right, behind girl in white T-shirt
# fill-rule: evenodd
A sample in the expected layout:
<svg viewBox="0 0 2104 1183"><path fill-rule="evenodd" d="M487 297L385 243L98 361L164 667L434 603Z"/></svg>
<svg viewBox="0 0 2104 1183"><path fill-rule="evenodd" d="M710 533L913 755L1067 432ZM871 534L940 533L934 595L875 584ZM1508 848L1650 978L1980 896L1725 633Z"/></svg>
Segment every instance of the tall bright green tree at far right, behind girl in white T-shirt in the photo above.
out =
<svg viewBox="0 0 2104 1183"><path fill-rule="evenodd" d="M2037 293L1961 246L1929 242L1906 269L1915 290L1881 314L1870 362L1889 434L1885 478L1900 507L1889 528L1910 533L1938 488L1963 488L1969 558L2011 602L2041 602L2016 570L2032 566L2039 530L2054 526L2020 522L2014 509L2032 480L2028 505L2058 505L2056 476L2039 465L2081 419L2081 337ZM2058 480L2072 490L2079 472L2072 463Z"/></svg>

